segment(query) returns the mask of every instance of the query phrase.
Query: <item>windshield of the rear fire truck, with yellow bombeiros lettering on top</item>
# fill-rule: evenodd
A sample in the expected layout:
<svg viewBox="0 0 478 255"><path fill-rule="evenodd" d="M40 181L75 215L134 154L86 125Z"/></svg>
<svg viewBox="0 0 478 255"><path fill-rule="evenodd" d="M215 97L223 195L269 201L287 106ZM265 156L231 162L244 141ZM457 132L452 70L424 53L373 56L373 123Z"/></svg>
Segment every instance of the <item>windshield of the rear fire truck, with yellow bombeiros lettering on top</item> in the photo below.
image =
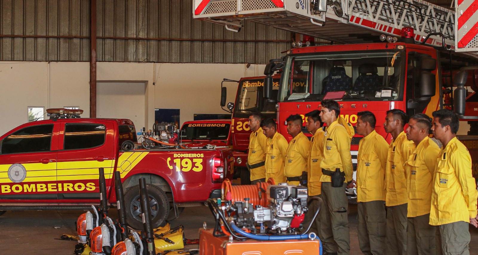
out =
<svg viewBox="0 0 478 255"><path fill-rule="evenodd" d="M272 97L279 92L279 79L273 79ZM264 100L264 80L250 79L239 83L239 95L236 98L234 117L249 118L251 112L261 112L265 118L275 118L275 103Z"/></svg>

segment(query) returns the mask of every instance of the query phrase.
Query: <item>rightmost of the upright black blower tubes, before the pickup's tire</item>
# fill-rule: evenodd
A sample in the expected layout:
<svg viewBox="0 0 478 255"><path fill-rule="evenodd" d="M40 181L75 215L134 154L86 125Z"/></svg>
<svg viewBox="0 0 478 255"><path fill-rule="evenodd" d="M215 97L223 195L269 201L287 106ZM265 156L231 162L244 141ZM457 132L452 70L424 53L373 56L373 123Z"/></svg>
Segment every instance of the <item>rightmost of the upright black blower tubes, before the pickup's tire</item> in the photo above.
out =
<svg viewBox="0 0 478 255"><path fill-rule="evenodd" d="M148 254L156 255L156 252L154 251L154 247L153 247L154 235L152 232L151 208L149 206L149 195L148 195L148 190L146 189L145 178L140 178L140 200L141 200L144 236L146 237L146 242L148 243Z"/></svg>

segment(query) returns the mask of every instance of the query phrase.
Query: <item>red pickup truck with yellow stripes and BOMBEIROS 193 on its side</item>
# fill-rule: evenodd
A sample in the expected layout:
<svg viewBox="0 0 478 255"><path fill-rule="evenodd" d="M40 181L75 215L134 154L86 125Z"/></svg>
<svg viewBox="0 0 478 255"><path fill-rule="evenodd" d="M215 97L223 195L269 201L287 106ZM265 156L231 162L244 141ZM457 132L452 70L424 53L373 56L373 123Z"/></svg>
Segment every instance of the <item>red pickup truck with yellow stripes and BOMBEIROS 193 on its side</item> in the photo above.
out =
<svg viewBox="0 0 478 255"><path fill-rule="evenodd" d="M219 197L223 179L232 177L234 159L227 147L121 146L128 143L136 144L137 136L127 119L59 118L14 128L0 136L0 214L98 204L98 168L103 167L109 201L116 201L113 172L120 171L128 222L141 229L139 178L147 179L157 226L171 208L177 216L178 207Z"/></svg>

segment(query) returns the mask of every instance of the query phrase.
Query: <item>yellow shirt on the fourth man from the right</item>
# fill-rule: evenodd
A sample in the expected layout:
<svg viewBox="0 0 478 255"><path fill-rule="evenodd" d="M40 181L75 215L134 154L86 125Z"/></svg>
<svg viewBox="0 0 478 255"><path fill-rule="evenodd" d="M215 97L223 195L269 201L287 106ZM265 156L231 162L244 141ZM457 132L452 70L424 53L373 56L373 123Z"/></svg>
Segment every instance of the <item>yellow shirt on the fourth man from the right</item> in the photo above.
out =
<svg viewBox="0 0 478 255"><path fill-rule="evenodd" d="M385 200L385 167L388 143L372 131L359 142L357 202Z"/></svg>

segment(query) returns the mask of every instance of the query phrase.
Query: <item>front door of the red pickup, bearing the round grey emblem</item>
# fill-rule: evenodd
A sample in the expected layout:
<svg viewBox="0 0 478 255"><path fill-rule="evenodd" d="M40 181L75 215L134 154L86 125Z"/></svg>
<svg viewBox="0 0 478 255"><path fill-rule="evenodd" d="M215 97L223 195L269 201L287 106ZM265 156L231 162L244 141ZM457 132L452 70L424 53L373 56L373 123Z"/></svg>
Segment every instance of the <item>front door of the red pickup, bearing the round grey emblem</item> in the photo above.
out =
<svg viewBox="0 0 478 255"><path fill-rule="evenodd" d="M32 123L0 141L0 200L57 199L59 126L54 122Z"/></svg>

